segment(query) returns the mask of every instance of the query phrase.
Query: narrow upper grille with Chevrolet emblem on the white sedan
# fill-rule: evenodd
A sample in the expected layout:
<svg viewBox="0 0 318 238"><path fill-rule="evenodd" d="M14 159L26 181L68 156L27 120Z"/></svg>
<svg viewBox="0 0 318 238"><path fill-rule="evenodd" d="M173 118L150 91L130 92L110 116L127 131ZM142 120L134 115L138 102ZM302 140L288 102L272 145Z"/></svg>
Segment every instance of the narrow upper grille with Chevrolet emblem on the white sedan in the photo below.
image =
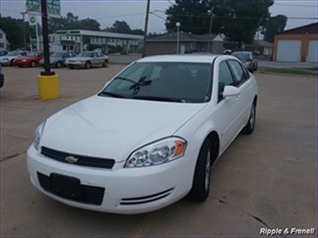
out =
<svg viewBox="0 0 318 238"><path fill-rule="evenodd" d="M41 154L45 157L49 157L51 159L67 164L72 164L75 166L88 166L112 169L115 165L115 159L79 156L58 151L56 149L48 149L46 147L42 147Z"/></svg>

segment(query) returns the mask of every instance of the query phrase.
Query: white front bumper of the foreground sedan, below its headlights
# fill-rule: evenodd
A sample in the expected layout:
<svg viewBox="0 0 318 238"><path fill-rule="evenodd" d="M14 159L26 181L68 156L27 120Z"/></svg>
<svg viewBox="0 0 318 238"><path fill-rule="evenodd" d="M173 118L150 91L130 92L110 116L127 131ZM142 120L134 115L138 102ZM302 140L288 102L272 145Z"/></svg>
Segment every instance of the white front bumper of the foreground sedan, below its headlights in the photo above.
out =
<svg viewBox="0 0 318 238"><path fill-rule="evenodd" d="M55 200L77 208L137 214L166 207L185 197L192 187L198 153L198 150L193 151L160 166L123 168L123 161L116 163L112 169L101 169L58 162L39 154L31 145L27 165L33 185ZM101 204L86 204L56 196L43 189L39 173L46 178L52 173L67 175L79 179L81 186L105 189Z"/></svg>

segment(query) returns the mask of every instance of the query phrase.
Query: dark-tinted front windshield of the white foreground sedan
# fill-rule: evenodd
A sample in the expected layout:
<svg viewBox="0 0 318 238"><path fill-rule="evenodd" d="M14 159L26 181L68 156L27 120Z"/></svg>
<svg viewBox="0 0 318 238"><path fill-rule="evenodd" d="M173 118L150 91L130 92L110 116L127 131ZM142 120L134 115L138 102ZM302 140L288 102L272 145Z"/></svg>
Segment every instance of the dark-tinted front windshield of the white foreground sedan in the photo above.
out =
<svg viewBox="0 0 318 238"><path fill-rule="evenodd" d="M135 63L111 81L99 96L203 103L211 98L211 64Z"/></svg>

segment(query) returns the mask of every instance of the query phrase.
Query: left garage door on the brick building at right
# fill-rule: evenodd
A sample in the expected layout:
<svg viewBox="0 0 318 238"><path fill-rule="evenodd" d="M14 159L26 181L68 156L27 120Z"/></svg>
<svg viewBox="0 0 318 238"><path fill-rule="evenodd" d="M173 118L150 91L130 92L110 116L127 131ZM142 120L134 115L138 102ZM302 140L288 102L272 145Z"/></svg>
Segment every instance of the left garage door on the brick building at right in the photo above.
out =
<svg viewBox="0 0 318 238"><path fill-rule="evenodd" d="M277 47L277 61L300 62L300 39L280 39Z"/></svg>

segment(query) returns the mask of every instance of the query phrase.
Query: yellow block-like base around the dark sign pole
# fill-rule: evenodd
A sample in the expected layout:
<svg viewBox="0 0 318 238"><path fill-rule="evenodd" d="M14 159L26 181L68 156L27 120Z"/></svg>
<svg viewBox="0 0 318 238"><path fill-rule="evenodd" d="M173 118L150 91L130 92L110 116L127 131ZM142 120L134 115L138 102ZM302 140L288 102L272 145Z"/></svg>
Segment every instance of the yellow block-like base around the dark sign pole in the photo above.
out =
<svg viewBox="0 0 318 238"><path fill-rule="evenodd" d="M60 97L58 76L39 75L38 76L39 99L56 99Z"/></svg>

